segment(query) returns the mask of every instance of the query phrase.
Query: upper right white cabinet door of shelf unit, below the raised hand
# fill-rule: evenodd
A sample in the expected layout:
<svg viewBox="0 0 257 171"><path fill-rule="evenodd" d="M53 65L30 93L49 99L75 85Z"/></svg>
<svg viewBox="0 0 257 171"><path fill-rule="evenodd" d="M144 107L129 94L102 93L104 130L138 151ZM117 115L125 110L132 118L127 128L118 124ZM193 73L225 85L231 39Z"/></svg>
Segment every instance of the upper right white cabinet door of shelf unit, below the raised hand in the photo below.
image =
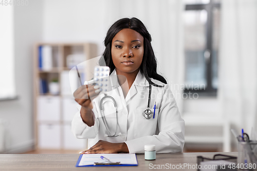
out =
<svg viewBox="0 0 257 171"><path fill-rule="evenodd" d="M74 115L78 112L77 105L79 104L72 97L64 97L62 100L63 100L63 121L71 122Z"/></svg>

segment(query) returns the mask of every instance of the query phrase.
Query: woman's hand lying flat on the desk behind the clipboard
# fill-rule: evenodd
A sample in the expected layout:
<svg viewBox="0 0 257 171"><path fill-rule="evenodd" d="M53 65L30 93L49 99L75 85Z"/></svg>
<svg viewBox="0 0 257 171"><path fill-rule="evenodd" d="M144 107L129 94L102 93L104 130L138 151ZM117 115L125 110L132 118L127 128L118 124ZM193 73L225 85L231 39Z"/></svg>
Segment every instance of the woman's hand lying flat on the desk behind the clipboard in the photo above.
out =
<svg viewBox="0 0 257 171"><path fill-rule="evenodd" d="M112 143L99 140L94 146L83 151L80 154L97 154L97 153L129 153L125 142Z"/></svg>

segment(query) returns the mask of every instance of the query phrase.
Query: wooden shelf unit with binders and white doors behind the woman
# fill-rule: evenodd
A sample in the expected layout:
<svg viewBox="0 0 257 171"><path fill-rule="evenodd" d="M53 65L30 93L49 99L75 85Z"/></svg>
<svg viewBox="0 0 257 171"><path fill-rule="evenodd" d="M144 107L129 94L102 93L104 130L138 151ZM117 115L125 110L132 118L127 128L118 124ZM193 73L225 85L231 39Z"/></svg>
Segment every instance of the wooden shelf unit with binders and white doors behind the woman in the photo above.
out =
<svg viewBox="0 0 257 171"><path fill-rule="evenodd" d="M44 64L42 60L47 58L46 53L44 52L43 55L40 47L50 47L48 58L50 54L51 65L47 70L42 67ZM78 111L76 108L78 104L71 91L64 93L65 89L70 88L67 80L69 80L68 73L71 67L67 57L74 54L82 56L80 59L86 61L97 56L97 46L90 43L48 42L39 42L34 45L33 112L36 149L86 149L87 147L87 140L76 139L71 133L71 120ZM43 89L42 80L45 81L44 87L47 89ZM49 92L48 86L52 80L58 80L59 93L57 94Z"/></svg>

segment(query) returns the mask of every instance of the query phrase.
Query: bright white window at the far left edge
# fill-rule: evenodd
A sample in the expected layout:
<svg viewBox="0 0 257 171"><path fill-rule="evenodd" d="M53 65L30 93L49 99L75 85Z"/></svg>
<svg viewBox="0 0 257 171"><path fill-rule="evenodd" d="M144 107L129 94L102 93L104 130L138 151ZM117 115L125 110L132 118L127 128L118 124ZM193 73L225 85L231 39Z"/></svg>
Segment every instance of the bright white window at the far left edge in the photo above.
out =
<svg viewBox="0 0 257 171"><path fill-rule="evenodd" d="M16 97L14 81L13 6L0 6L0 100Z"/></svg>

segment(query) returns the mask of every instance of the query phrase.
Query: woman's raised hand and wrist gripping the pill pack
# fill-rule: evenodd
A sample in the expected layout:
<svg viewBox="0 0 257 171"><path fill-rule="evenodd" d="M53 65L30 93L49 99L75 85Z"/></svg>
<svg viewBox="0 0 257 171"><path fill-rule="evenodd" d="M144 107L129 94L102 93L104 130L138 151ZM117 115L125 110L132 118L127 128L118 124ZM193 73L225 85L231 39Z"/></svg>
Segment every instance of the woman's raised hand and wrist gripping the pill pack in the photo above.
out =
<svg viewBox="0 0 257 171"><path fill-rule="evenodd" d="M92 112L93 105L91 100L100 93L99 86L94 84L83 85L74 92L75 101L81 105L80 115L84 123L88 126L95 124L94 114Z"/></svg>

